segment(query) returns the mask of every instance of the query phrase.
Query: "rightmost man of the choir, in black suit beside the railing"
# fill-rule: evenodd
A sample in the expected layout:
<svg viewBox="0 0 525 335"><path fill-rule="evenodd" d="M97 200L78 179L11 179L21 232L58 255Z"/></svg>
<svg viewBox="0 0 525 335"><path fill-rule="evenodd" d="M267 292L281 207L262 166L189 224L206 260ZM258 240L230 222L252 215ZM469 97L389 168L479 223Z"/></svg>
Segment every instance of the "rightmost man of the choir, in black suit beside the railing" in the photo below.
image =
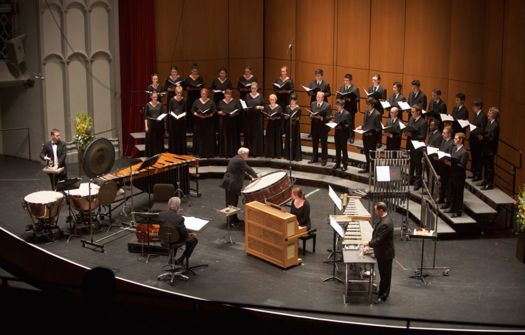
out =
<svg viewBox="0 0 525 335"><path fill-rule="evenodd" d="M483 147L483 168L484 179L482 182L477 183L477 186L483 186L482 191L491 190L494 188L494 157L498 153L498 141L499 141L499 124L497 118L499 117L499 110L496 107L490 107L487 114L489 122L485 131L487 134L482 136L478 134L478 139L482 141Z"/></svg>

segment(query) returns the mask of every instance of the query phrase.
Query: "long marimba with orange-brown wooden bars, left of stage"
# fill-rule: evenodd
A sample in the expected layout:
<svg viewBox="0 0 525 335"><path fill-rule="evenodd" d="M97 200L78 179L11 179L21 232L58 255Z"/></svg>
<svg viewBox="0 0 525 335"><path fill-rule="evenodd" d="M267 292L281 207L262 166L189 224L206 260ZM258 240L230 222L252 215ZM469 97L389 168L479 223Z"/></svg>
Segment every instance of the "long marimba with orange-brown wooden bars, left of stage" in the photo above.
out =
<svg viewBox="0 0 525 335"><path fill-rule="evenodd" d="M133 186L144 192L153 191L153 185L157 183L170 183L176 186L176 182L180 181L180 188L184 191L184 194L190 194L190 167L197 168L198 174L198 159L186 155L164 153L149 168L139 170L141 165L142 163L138 163L131 166L131 175L133 177ZM178 176L180 176L181 180L178 180ZM196 176L198 177L198 175ZM123 168L112 174L104 175L93 182L100 185L108 180L114 180L117 185L128 182L130 180L130 168ZM195 191L198 196L198 183Z"/></svg>

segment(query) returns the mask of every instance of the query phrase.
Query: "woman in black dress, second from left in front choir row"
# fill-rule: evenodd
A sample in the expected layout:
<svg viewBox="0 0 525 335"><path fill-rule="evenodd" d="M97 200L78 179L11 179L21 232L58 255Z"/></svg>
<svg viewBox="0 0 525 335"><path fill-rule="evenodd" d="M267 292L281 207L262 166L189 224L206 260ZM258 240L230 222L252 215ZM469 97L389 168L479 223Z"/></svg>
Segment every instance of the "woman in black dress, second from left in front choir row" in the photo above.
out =
<svg viewBox="0 0 525 335"><path fill-rule="evenodd" d="M168 106L168 114L180 115L186 113L187 100L182 96L182 85L177 84L175 87L175 96L170 99L170 105ZM183 116L178 120L172 115L166 117L170 118L170 140L168 142L168 151L175 155L187 155L188 149L186 146L186 120L187 116Z"/></svg>

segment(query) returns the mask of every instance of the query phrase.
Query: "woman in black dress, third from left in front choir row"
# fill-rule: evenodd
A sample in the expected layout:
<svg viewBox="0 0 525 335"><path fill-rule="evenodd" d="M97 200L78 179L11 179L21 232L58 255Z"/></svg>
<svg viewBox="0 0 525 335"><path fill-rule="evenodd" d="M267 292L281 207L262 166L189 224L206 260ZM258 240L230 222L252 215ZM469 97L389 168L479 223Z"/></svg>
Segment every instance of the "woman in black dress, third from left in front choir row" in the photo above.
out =
<svg viewBox="0 0 525 335"><path fill-rule="evenodd" d="M213 100L208 98L208 94L208 89L202 89L201 98L195 100L192 106L193 155L201 158L214 157L217 147L213 122L217 107ZM206 110L209 111L203 114L202 112Z"/></svg>

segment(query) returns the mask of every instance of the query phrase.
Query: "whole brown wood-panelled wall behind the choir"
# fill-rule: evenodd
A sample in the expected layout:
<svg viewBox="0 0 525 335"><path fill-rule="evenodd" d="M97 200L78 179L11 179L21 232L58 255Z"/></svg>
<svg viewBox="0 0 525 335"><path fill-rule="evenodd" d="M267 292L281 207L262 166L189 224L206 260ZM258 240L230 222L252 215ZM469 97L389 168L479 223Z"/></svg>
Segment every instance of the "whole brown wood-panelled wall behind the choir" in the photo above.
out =
<svg viewBox="0 0 525 335"><path fill-rule="evenodd" d="M380 73L389 94L392 82L400 81L408 96L410 82L419 79L429 99L433 89L443 91L449 113L458 92L467 95L468 105L481 98L485 110L499 107L501 139L521 148L523 122L516 120L525 114L524 16L521 0L156 0L158 71L164 79L176 64L186 77L197 61L210 84L222 66L236 83L249 64L269 88L279 68L289 66L286 46L295 38L296 88L307 85L316 68L324 70L332 90L345 73L352 73L361 90ZM299 94L300 104L308 101L306 93ZM500 155L519 164L505 144ZM509 170L501 159L498 164ZM519 183L524 175L518 171Z"/></svg>

